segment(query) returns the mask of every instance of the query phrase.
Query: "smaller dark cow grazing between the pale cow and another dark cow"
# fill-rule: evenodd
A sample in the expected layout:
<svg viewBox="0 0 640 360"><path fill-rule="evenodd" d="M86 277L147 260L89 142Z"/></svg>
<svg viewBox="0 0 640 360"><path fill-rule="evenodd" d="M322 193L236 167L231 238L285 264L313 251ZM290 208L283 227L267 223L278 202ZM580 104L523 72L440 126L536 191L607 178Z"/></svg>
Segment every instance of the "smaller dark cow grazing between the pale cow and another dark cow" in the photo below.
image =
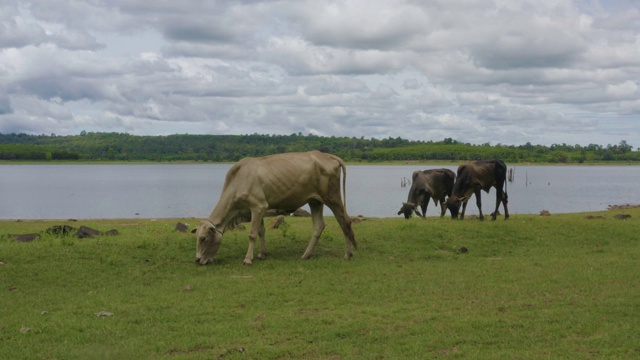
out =
<svg viewBox="0 0 640 360"><path fill-rule="evenodd" d="M414 171L407 202L402 203L398 215L404 214L404 218L408 219L415 212L418 216L426 217L429 199L433 199L436 206L440 202L440 217L444 216L447 211L445 196L451 196L455 177L456 174L449 169ZM422 214L418 212L418 205L422 208Z"/></svg>

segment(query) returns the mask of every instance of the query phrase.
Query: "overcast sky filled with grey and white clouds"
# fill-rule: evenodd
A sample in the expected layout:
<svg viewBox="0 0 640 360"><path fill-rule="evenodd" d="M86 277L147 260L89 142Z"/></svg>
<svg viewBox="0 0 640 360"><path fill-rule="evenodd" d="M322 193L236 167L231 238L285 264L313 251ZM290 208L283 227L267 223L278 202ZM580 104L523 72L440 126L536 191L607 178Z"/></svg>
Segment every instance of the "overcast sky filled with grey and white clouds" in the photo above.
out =
<svg viewBox="0 0 640 360"><path fill-rule="evenodd" d="M640 147L637 0L18 0L0 22L0 133Z"/></svg>

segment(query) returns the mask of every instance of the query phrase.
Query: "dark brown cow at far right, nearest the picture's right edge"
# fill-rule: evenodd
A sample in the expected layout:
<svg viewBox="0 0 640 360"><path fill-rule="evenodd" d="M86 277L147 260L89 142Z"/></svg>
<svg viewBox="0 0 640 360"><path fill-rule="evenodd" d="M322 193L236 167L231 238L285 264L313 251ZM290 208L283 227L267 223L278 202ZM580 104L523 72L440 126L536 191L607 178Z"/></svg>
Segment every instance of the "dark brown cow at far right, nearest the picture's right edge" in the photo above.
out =
<svg viewBox="0 0 640 360"><path fill-rule="evenodd" d="M480 212L480 220L484 220L482 215L482 202L480 201L480 190L489 192L491 187L496 188L496 209L491 214L491 220L495 220L498 214L500 203L504 206L504 219L509 218L507 208L507 166L502 160L478 160L462 164L458 167L458 175L453 185L452 195L447 200L447 207L451 212L451 218L458 218L458 211L462 203L460 219L464 219L464 211L471 195L476 195L476 203ZM502 188L504 187L504 191Z"/></svg>

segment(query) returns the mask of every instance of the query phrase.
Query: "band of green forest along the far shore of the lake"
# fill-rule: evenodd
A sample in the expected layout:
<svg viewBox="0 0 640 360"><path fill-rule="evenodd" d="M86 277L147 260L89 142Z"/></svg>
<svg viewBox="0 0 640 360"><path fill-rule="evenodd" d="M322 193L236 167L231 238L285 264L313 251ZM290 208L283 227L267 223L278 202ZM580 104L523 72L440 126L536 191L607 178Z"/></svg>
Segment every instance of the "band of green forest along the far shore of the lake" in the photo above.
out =
<svg viewBox="0 0 640 360"><path fill-rule="evenodd" d="M464 161L500 158L512 163L638 162L640 151L618 144L550 146L469 144L446 138L322 137L315 135L169 135L82 132L56 136L0 133L0 161L235 162L247 156L320 150L348 162Z"/></svg>

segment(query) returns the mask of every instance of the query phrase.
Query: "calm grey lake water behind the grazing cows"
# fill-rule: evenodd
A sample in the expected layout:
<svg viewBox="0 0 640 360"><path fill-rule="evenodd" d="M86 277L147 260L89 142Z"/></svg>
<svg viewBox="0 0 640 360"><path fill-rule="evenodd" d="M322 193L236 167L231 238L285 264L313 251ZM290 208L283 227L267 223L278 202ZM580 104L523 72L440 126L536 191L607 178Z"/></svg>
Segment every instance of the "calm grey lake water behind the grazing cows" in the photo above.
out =
<svg viewBox="0 0 640 360"><path fill-rule="evenodd" d="M206 217L231 165L0 165L0 219ZM409 187L401 179L433 166L347 167L350 215L396 217ZM456 166L448 167L456 170ZM640 204L638 166L509 166L511 214L604 210ZM482 193L485 214L495 192ZM502 210L501 210L502 212ZM477 214L474 198L467 214ZM325 214L330 215L327 209ZM429 204L428 216L439 214ZM448 213L447 213L447 216Z"/></svg>

